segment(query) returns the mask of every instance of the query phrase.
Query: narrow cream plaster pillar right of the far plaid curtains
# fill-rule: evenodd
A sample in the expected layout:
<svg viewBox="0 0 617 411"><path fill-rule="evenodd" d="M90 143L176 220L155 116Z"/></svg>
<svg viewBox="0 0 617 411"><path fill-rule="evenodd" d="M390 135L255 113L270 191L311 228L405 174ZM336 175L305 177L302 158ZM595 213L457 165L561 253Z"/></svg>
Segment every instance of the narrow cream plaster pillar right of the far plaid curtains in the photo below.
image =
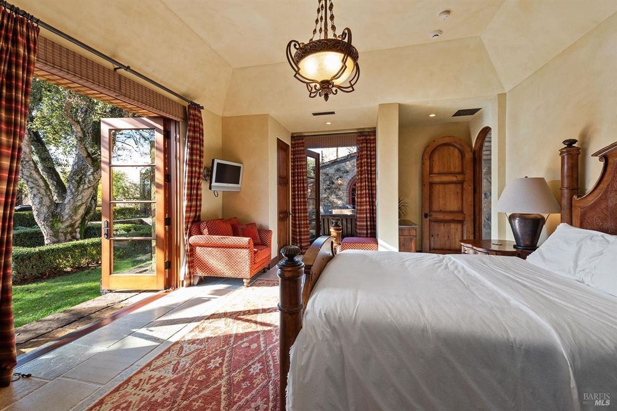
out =
<svg viewBox="0 0 617 411"><path fill-rule="evenodd" d="M399 104L379 104L377 114L377 240L379 250L399 251Z"/></svg>

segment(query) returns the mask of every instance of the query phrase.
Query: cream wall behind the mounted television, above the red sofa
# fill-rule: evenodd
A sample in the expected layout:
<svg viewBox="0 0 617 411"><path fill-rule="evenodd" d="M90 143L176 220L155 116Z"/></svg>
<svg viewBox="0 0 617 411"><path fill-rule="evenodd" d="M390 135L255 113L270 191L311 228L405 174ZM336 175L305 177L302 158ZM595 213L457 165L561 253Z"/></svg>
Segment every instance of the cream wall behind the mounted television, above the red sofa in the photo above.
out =
<svg viewBox="0 0 617 411"><path fill-rule="evenodd" d="M223 158L244 164L242 190L222 192L223 217L256 222L273 232L276 250L276 139L291 143L291 133L267 114L223 117Z"/></svg>

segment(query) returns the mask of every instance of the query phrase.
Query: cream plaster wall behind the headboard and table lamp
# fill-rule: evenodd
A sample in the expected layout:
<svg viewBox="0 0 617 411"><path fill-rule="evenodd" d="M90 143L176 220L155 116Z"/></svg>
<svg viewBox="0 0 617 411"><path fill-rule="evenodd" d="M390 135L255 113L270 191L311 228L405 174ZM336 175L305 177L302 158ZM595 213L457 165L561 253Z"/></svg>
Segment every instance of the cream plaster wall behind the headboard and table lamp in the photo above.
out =
<svg viewBox="0 0 617 411"><path fill-rule="evenodd" d="M592 187L601 166L589 155L617 136L616 51L617 14L507 93L507 179L545 177L558 197L558 150L575 138L583 149L581 193ZM558 222L551 216L545 232Z"/></svg>

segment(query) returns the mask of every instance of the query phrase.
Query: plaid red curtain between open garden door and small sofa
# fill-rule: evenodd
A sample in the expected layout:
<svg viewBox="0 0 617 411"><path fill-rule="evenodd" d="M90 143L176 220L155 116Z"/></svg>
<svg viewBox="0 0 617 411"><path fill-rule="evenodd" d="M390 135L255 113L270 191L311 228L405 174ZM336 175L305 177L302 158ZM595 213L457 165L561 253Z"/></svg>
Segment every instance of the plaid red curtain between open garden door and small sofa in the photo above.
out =
<svg viewBox="0 0 617 411"><path fill-rule="evenodd" d="M201 177L204 162L204 121L201 109L189 105L184 142L184 285L193 280L193 258L189 247L191 226L201 219Z"/></svg>

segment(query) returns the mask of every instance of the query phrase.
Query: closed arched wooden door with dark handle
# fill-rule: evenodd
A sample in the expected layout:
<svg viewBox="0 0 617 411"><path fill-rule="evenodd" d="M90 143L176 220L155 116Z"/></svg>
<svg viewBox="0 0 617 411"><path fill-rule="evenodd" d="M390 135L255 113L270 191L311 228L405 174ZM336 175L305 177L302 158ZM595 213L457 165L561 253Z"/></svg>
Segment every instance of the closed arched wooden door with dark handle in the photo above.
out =
<svg viewBox="0 0 617 411"><path fill-rule="evenodd" d="M473 153L458 137L439 137L422 155L422 251L460 253L473 238Z"/></svg>

